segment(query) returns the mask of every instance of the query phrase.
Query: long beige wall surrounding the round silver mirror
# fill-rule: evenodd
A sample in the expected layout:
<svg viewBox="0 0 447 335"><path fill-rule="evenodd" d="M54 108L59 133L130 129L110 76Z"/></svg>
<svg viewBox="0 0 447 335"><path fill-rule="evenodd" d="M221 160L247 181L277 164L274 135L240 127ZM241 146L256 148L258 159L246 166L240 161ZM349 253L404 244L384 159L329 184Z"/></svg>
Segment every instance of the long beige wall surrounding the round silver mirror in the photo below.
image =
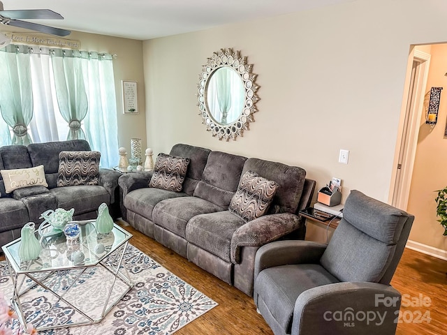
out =
<svg viewBox="0 0 447 335"><path fill-rule="evenodd" d="M410 45L446 41L446 16L444 0L358 0L147 40L147 144L299 165L318 187L342 178L344 199L358 189L387 202ZM235 142L206 132L196 106L202 65L225 47L248 57L261 86L256 121Z"/></svg>

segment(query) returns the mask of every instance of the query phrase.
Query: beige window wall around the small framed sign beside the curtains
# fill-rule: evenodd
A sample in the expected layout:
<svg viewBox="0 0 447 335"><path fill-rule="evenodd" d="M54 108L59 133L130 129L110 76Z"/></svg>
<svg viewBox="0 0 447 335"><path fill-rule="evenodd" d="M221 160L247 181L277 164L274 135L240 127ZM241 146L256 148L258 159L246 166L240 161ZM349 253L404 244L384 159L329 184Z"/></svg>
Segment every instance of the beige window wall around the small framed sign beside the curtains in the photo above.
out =
<svg viewBox="0 0 447 335"><path fill-rule="evenodd" d="M16 31L20 33L31 32L29 30L25 31L24 29L17 28L8 29L8 27L2 27L1 30ZM140 137L143 143L146 142L146 104L145 82L142 72L142 41L96 34L87 34L79 31L73 31L69 36L67 36L67 38L71 40L80 40L81 50L117 54L117 59L113 61L115 91L117 94L117 137L119 146L126 147L130 155L132 137ZM140 114L123 114L121 91L122 80L138 81L138 100ZM104 131L107 131L107 129L104 129Z"/></svg>

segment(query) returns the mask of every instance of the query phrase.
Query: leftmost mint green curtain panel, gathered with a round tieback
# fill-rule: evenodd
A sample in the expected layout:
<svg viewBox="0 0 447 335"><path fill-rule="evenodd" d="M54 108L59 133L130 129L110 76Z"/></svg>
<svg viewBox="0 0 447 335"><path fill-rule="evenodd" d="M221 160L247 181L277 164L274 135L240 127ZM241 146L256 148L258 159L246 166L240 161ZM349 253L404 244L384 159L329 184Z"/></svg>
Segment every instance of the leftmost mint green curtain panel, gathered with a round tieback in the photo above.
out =
<svg viewBox="0 0 447 335"><path fill-rule="evenodd" d="M13 129L10 144L31 143L28 125L33 118L33 92L29 58L27 45L8 45L0 50L0 112ZM6 128L0 124L0 137L6 136Z"/></svg>

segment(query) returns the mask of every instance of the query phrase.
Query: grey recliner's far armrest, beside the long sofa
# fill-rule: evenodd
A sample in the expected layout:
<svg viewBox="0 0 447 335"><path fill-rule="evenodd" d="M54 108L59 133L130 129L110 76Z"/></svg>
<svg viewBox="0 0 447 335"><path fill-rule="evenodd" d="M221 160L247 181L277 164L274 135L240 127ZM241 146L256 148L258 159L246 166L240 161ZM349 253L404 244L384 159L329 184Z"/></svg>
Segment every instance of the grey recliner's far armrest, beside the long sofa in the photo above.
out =
<svg viewBox="0 0 447 335"><path fill-rule="evenodd" d="M287 264L318 264L327 244L314 241L274 241L259 248L254 261L254 280L269 267Z"/></svg>

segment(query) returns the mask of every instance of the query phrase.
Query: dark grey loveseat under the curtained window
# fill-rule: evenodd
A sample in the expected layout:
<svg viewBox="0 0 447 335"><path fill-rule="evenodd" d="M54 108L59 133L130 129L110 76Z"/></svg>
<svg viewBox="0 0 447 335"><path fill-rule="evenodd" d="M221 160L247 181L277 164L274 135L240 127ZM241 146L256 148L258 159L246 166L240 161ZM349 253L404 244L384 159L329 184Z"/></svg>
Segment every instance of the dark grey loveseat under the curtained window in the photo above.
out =
<svg viewBox="0 0 447 335"><path fill-rule="evenodd" d="M17 188L6 193L5 181L0 175L0 244L20 237L23 225L32 221L36 226L47 209L74 208L74 219L96 218L98 206L105 202L113 217L119 213L120 172L99 169L98 185L57 187L59 153L61 151L91 151L85 140L69 140L0 147L0 170L35 168L43 165L48 186ZM7 171L6 171L7 172Z"/></svg>

